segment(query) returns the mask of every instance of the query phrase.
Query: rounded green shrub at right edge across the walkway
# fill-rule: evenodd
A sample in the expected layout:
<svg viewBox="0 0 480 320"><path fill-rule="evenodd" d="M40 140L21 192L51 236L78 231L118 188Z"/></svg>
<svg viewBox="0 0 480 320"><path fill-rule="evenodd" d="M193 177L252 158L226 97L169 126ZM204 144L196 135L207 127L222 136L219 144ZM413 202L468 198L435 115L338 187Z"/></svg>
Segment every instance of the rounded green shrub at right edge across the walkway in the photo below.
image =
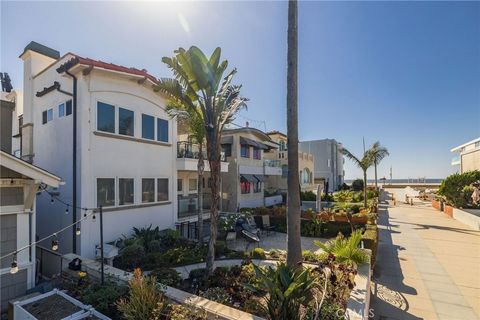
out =
<svg viewBox="0 0 480 320"><path fill-rule="evenodd" d="M463 208L471 204L473 191L466 187L477 181L480 181L479 170L454 173L442 181L438 193L445 197L447 204Z"/></svg>

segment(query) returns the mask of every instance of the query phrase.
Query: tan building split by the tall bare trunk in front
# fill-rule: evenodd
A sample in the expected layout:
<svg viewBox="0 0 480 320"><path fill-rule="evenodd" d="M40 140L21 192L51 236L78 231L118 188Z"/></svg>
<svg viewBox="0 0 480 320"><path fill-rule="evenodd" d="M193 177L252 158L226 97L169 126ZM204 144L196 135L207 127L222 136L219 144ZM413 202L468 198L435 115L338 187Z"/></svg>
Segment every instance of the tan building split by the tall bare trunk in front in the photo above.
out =
<svg viewBox="0 0 480 320"><path fill-rule="evenodd" d="M278 144L278 149L271 149L265 152L265 158L276 160L280 162L282 168L281 176L269 176L268 185L274 186L283 194L287 193L288 183L288 151L287 151L287 136L279 131L268 132L267 135L273 142ZM298 152L298 168L300 177L300 187L302 191L315 190L315 183L313 181L314 173L314 158L313 155L306 152Z"/></svg>

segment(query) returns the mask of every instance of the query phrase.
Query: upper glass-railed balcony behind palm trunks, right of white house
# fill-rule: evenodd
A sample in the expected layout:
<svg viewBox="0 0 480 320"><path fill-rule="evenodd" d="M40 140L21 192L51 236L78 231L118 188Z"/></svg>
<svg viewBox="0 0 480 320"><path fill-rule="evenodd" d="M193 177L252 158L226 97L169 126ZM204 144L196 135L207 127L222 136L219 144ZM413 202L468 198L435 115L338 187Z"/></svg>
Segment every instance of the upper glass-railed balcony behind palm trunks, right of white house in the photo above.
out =
<svg viewBox="0 0 480 320"><path fill-rule="evenodd" d="M205 172L210 172L210 166L207 161L206 146L203 150L205 159ZM198 144L188 141L177 142L177 170L178 171L197 171L198 157L200 155ZM228 172L228 162L225 153L220 154L221 172Z"/></svg>

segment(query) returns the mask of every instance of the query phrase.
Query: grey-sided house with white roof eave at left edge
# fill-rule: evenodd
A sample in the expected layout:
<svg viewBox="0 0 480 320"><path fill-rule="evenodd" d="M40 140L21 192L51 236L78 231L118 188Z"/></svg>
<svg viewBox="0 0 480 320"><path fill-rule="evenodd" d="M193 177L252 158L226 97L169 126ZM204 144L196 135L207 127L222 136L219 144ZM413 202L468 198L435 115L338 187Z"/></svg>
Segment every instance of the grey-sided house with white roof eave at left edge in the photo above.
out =
<svg viewBox="0 0 480 320"><path fill-rule="evenodd" d="M0 256L3 257L35 241L35 199L39 186L58 188L60 178L8 151L0 152L0 163ZM12 268L14 261L16 272ZM35 286L35 265L34 245L0 261L0 312L6 310L9 300L25 295Z"/></svg>

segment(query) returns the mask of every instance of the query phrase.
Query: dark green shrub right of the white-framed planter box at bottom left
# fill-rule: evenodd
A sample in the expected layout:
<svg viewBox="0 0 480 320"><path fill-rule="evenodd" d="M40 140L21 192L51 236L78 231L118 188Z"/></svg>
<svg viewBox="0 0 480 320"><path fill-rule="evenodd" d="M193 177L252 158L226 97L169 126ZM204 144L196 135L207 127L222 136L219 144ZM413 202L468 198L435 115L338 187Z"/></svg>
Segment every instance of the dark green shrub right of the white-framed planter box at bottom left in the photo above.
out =
<svg viewBox="0 0 480 320"><path fill-rule="evenodd" d="M114 319L121 317L116 302L125 298L128 294L126 285L114 281L106 281L104 285L93 284L83 292L81 300L83 303L93 306L99 312Z"/></svg>

